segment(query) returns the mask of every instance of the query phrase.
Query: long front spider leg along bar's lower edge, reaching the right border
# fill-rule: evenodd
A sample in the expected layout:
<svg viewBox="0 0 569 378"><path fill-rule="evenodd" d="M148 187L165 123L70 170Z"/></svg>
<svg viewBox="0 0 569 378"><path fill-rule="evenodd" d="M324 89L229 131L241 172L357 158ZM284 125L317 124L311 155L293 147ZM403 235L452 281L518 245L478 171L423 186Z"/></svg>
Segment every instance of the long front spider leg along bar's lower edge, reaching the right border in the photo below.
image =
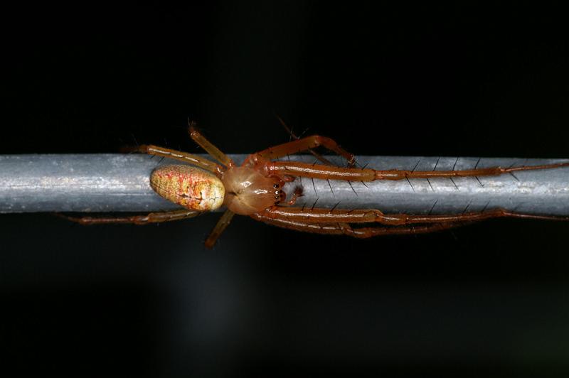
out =
<svg viewBox="0 0 569 378"><path fill-rule="evenodd" d="M552 215L525 214L512 212L501 208L484 212L465 212L464 214L445 215L385 215L379 210L329 210L329 209L303 209L301 207L272 206L259 213L260 216L302 222L307 224L321 223L381 223L382 225L401 226L425 223L449 223L449 222L477 222L491 218L510 217L536 220L569 220L569 217L555 217Z"/></svg>

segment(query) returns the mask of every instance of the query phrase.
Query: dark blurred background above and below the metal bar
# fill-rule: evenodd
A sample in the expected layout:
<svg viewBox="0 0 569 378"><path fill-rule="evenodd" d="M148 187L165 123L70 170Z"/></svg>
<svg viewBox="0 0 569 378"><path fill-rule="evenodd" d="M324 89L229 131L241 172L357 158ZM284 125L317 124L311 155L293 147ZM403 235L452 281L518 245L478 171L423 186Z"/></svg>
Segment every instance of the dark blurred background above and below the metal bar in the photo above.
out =
<svg viewBox="0 0 569 378"><path fill-rule="evenodd" d="M569 157L561 9L288 1L5 7L0 153ZM569 374L569 225L356 240L218 215L0 217L0 374Z"/></svg>

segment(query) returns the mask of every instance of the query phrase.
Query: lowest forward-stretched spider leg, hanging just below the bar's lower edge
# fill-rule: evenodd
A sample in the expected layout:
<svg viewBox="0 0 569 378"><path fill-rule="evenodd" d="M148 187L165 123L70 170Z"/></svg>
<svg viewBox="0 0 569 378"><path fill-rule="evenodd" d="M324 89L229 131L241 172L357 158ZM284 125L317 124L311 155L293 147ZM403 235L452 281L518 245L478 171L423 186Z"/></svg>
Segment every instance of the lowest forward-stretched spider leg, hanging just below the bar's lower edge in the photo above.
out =
<svg viewBox="0 0 569 378"><path fill-rule="evenodd" d="M368 237L375 237L380 235L394 235L394 234L423 234L427 232L436 232L443 229L450 229L469 224L469 222L441 222L432 223L430 225L418 226L403 226L403 227L360 227L353 228L348 223L307 223L299 222L297 220L275 219L265 217L261 214L253 214L251 217L255 220L260 220L268 225L277 227L294 229L295 231L312 232L314 234L335 234L335 235L348 235L365 239Z"/></svg>

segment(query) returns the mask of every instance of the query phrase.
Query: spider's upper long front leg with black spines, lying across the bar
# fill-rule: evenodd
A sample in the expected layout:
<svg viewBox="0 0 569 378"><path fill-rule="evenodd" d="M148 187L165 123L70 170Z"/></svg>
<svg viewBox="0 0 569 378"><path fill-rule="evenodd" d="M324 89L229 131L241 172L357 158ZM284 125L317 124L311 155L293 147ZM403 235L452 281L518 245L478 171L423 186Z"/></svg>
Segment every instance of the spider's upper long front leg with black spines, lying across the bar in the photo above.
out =
<svg viewBox="0 0 569 378"><path fill-rule="evenodd" d="M293 142L294 143L294 142ZM539 169L553 169L569 167L569 162L541 164L539 166L523 167L489 167L467 169L463 171L405 171L391 169L376 171L371 168L341 168L323 166L319 164L300 163L298 161L269 161L265 163L265 170L270 175L291 175L322 180L346 181L374 181L374 180L405 180L406 178L453 178L473 176L494 176L516 171L535 171Z"/></svg>

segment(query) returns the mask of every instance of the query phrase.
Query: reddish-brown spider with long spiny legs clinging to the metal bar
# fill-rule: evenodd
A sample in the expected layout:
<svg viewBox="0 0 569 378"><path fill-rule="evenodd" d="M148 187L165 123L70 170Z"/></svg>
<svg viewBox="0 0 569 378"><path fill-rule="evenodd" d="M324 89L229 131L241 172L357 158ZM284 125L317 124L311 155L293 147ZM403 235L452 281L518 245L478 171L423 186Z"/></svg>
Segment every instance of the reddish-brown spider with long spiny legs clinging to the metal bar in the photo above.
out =
<svg viewBox="0 0 569 378"><path fill-rule="evenodd" d="M341 148L334 140L324 136L307 136L285 144L270 147L250 154L241 166L211 144L190 124L191 139L203 148L217 162L191 153L169 148L143 145L136 151L150 155L172 158L191 165L167 165L156 168L150 176L151 187L166 200L184 207L183 210L151 212L148 215L129 217L68 217L83 225L102 223L134 223L144 225L195 217L203 212L227 207L216 227L206 239L211 248L227 227L233 215L247 215L270 225L317 234L344 234L367 238L385 234L417 234L457 227L469 222L495 217L516 217L541 220L569 220L569 217L553 217L512 212L496 208L482 212L464 212L448 215L383 214L376 209L327 209L294 207L302 190L294 190L287 201L282 190L285 183L297 177L324 180L373 181L404 180L409 178L453 178L489 176L569 166L569 163L545 164L523 167L491 167L463 171L405 171L391 169L378 171L371 168L356 168L353 154ZM296 161L275 161L283 156L312 151L322 146L337 153L347 161L347 168L326 164L308 164ZM319 157L317 153L315 156ZM360 227L357 227L360 226Z"/></svg>

